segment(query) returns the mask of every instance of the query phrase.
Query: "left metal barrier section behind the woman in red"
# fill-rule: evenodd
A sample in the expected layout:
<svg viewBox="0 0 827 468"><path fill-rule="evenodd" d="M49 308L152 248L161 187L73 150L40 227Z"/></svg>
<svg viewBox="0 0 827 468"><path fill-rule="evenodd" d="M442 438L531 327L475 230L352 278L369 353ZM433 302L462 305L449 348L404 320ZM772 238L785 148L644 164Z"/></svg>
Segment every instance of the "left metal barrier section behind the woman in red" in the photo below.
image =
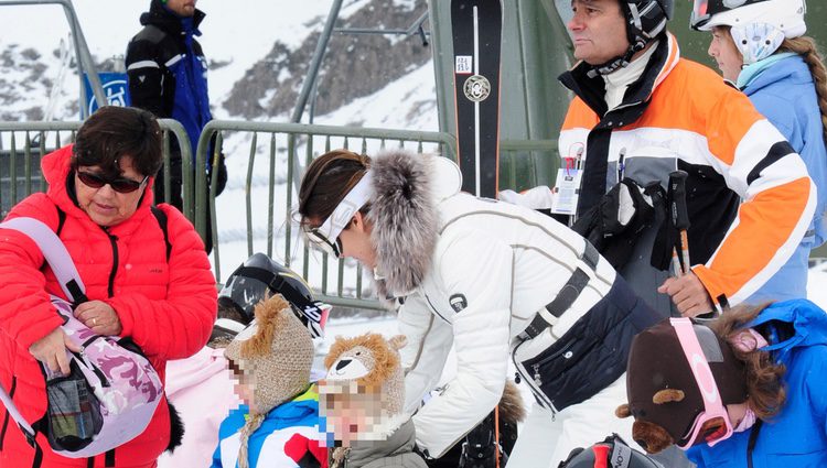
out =
<svg viewBox="0 0 827 468"><path fill-rule="evenodd" d="M170 192L169 161L171 139L181 144L184 172L192 173L192 151L186 131L175 120L160 119L163 130L163 160L167 176L165 194ZM35 192L46 191L40 168L41 157L75 141L80 121L0 122L0 215ZM184 177L185 191L192 191L192 175ZM0 218L1 219L1 218ZM190 218L192 219L192 217Z"/></svg>

